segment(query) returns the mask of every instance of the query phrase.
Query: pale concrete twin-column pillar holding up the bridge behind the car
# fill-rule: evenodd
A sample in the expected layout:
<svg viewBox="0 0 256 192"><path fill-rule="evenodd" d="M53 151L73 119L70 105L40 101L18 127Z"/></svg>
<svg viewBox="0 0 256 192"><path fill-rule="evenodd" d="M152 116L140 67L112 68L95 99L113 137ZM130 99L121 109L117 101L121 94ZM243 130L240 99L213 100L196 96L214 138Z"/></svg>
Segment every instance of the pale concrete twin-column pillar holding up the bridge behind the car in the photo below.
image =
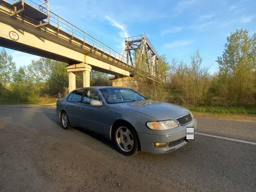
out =
<svg viewBox="0 0 256 192"><path fill-rule="evenodd" d="M76 74L83 73L83 87L90 87L91 66L86 63L74 64L66 67L69 73L69 92L76 89Z"/></svg>

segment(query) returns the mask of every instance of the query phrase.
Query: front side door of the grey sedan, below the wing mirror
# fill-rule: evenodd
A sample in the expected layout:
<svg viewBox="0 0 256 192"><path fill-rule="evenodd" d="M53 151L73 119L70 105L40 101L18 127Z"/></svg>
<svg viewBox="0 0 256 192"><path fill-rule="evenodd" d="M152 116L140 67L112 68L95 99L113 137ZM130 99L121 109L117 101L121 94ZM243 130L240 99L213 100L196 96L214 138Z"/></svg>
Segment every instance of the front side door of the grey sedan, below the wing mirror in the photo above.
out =
<svg viewBox="0 0 256 192"><path fill-rule="evenodd" d="M84 91L84 96L80 105L81 118L84 119L83 127L102 134L104 130L104 123L102 122L104 106L92 106L90 105L92 100L101 101L101 97L93 88L87 88Z"/></svg>

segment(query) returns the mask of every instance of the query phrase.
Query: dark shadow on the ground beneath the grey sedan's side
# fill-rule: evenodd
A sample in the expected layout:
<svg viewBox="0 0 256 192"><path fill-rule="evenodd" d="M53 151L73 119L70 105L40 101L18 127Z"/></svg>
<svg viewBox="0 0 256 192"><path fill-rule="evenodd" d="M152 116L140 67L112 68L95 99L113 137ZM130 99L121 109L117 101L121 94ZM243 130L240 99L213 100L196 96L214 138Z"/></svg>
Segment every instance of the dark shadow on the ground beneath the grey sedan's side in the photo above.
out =
<svg viewBox="0 0 256 192"><path fill-rule="evenodd" d="M49 114L49 113L45 113L45 116L47 116L47 118L49 120L54 122L60 129L62 129L61 121L56 116L52 116L52 114ZM89 131L89 130L83 129L81 127L73 127L73 129L81 131L81 132L87 134L88 136L94 138L95 140L98 140L102 144L105 144L106 146L108 146L108 147L112 148L113 150L115 150L115 145L112 143L112 141L108 140L108 138L102 136L101 134L98 134L98 133L95 133L93 131Z"/></svg>

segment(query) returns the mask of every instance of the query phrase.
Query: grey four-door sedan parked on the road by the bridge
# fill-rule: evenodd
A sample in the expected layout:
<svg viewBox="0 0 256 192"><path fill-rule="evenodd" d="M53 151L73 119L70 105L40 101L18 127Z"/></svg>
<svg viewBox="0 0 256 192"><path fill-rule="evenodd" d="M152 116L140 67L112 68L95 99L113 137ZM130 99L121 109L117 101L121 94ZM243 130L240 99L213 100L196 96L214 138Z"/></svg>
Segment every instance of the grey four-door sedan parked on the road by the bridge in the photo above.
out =
<svg viewBox="0 0 256 192"><path fill-rule="evenodd" d="M56 102L63 129L102 134L124 155L163 154L194 139L197 120L181 106L152 101L124 87L79 88Z"/></svg>

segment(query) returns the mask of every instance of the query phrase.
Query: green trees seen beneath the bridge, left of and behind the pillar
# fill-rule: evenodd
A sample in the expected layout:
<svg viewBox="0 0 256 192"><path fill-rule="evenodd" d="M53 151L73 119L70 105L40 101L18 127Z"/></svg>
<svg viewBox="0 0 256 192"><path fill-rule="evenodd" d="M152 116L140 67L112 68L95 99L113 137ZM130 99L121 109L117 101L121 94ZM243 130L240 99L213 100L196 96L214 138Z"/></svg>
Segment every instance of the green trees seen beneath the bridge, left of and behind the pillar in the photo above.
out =
<svg viewBox="0 0 256 192"><path fill-rule="evenodd" d="M67 64L51 59L32 60L16 67L5 49L0 52L0 103L2 100L38 103L42 98L61 98L68 90ZM108 74L92 70L91 86L111 86ZM76 87L83 87L83 74L76 74Z"/></svg>

